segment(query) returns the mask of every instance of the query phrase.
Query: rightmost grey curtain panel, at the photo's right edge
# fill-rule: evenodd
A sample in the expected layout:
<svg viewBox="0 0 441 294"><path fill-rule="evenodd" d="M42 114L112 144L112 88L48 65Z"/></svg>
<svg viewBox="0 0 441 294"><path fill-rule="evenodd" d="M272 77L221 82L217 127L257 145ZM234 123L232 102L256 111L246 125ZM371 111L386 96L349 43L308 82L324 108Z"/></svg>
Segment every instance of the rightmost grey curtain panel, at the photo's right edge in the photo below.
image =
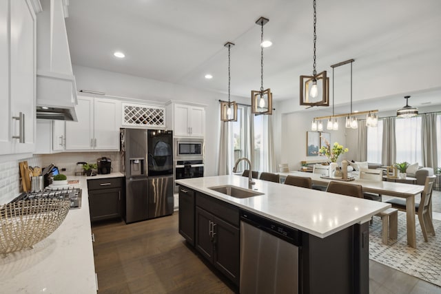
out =
<svg viewBox="0 0 441 294"><path fill-rule="evenodd" d="M436 117L438 114L423 114L421 116L421 133L422 133L422 166L437 167L437 137L436 137Z"/></svg>

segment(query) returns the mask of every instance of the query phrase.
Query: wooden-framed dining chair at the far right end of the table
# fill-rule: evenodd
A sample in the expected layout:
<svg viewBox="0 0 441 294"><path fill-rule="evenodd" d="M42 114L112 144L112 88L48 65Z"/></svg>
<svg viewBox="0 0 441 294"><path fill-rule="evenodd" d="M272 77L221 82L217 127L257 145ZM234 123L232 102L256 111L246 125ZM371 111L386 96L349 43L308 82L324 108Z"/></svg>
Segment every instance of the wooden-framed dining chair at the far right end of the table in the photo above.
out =
<svg viewBox="0 0 441 294"><path fill-rule="evenodd" d="M421 231L425 242L427 242L427 232L435 235L431 213L431 198L435 178L436 176L428 176L426 178L424 190L421 193L421 201L419 203L415 203L415 213L418 214L418 220L420 221ZM386 202L392 204L393 208L406 211L406 200L404 199L392 198Z"/></svg>

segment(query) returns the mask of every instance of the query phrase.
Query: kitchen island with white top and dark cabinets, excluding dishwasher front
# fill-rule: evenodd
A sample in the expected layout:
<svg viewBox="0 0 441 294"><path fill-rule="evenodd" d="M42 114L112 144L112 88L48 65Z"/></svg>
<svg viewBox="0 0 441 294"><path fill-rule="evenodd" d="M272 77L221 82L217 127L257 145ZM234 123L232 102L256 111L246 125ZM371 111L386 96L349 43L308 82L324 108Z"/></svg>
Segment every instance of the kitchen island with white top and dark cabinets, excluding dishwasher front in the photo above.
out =
<svg viewBox="0 0 441 294"><path fill-rule="evenodd" d="M247 189L248 178L214 176L176 180L181 185L181 235L239 286L242 279L238 267L240 258L243 258L238 248L243 243L243 239L239 241L243 233L239 224L243 218L239 216L255 213L298 230L299 293L325 290L369 293L368 222L371 216L390 207L389 204L263 180L254 181L253 191L261 195L236 198L209 188L232 185ZM193 200L184 202L186 200L182 198L184 205L181 206L181 193L193 193ZM192 211L193 235L192 224L188 222ZM211 233L208 240L205 231ZM221 243L222 239L225 241Z"/></svg>

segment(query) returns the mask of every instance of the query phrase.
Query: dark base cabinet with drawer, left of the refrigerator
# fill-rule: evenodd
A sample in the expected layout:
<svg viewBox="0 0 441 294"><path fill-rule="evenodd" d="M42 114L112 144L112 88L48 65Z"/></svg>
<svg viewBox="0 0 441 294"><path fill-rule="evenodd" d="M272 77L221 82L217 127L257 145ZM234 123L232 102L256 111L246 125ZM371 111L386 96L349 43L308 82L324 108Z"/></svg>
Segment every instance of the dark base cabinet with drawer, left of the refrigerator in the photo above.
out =
<svg viewBox="0 0 441 294"><path fill-rule="evenodd" d="M123 178L88 180L90 221L121 218Z"/></svg>

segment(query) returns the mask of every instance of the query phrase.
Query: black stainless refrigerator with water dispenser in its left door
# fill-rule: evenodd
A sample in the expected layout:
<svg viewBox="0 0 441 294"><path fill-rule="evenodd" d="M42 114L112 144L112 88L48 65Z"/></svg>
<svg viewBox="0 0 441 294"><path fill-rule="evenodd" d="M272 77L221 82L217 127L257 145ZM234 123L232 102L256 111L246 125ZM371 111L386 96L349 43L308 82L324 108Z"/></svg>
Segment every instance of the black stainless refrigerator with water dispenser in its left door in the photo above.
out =
<svg viewBox="0 0 441 294"><path fill-rule="evenodd" d="M173 135L158 129L121 129L125 174L124 220L138 222L173 213Z"/></svg>

